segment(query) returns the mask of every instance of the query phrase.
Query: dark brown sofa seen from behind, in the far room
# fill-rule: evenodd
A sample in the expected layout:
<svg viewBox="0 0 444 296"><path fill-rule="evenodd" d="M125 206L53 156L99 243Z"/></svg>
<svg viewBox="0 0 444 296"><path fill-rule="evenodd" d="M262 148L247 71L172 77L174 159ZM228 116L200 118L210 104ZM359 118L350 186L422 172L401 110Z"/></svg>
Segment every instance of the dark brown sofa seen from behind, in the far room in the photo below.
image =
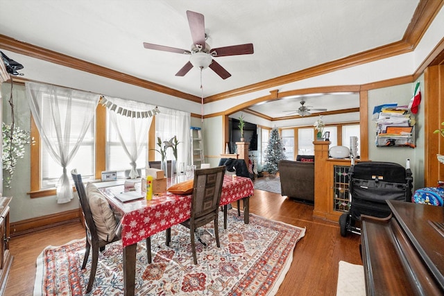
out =
<svg viewBox="0 0 444 296"><path fill-rule="evenodd" d="M314 155L298 155L296 162L281 160L278 168L282 196L314 203Z"/></svg>

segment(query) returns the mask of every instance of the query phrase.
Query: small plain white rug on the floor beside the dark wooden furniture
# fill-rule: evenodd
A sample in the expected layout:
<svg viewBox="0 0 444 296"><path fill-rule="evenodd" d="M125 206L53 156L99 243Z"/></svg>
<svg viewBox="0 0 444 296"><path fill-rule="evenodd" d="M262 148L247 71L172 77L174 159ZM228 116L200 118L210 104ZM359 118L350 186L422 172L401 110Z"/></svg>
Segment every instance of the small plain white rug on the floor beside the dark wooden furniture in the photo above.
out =
<svg viewBox="0 0 444 296"><path fill-rule="evenodd" d="M339 261L338 286L336 296L366 295L364 266Z"/></svg>

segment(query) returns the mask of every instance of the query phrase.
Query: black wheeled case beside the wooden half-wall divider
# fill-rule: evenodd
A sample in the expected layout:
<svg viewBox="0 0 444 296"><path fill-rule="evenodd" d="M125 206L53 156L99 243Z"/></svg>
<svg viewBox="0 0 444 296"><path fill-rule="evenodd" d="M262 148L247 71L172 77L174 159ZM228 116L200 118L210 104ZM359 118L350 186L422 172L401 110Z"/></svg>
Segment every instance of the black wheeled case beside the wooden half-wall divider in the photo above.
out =
<svg viewBox="0 0 444 296"><path fill-rule="evenodd" d="M391 211L386 200L411 202L413 177L410 168L393 162L359 162L348 171L350 211L339 217L341 235L361 234L355 222L361 215L385 218Z"/></svg>

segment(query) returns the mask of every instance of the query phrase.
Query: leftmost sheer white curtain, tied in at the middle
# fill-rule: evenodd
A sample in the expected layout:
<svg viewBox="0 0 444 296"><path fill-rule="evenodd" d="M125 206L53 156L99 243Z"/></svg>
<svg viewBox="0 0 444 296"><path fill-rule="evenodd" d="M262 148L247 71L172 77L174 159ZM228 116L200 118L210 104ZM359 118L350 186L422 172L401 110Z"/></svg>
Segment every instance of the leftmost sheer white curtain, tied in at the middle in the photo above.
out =
<svg viewBox="0 0 444 296"><path fill-rule="evenodd" d="M57 202L69 202L73 194L67 166L94 119L100 95L36 82L25 82L25 87L40 137L51 157L63 168L57 185ZM80 112L78 108L73 112L73 101L81 101Z"/></svg>

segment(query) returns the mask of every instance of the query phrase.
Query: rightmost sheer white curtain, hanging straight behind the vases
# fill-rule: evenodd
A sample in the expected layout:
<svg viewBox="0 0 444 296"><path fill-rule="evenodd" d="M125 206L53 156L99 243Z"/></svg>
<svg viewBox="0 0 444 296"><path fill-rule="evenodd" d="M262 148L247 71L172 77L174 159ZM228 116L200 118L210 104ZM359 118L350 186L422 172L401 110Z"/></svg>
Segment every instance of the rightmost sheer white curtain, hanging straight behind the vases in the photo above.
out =
<svg viewBox="0 0 444 296"><path fill-rule="evenodd" d="M155 116L156 141L157 137L160 137L162 141L169 141L169 139L176 136L180 142L178 144L178 163L191 164L189 131L191 114L164 107L159 107L159 110L160 114ZM160 160L159 153L156 153L155 157ZM167 159L174 159L172 149L167 149Z"/></svg>

